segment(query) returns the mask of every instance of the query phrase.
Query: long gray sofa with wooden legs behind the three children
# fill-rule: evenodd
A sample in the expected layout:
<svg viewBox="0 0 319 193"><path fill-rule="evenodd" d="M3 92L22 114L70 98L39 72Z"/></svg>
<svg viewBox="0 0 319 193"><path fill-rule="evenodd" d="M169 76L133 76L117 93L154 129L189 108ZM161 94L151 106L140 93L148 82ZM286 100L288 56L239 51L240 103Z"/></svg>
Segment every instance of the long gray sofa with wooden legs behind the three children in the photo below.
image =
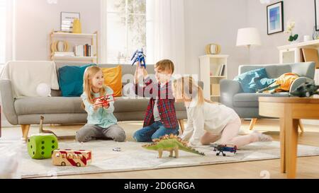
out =
<svg viewBox="0 0 319 193"><path fill-rule="evenodd" d="M79 65L79 64L73 64ZM57 64L57 69L63 65ZM99 64L100 67L118 65ZM149 74L154 74L154 66L148 65ZM122 65L122 75L135 72L135 66ZM123 76L123 86L128 80ZM202 85L202 83L199 83ZM81 124L86 123L86 112L81 107L79 97L62 97L60 90L52 90L52 97L19 97L13 98L11 81L0 80L0 92L4 115L9 123L21 125L23 137L27 138L30 124L39 124L40 115L45 117L45 124ZM114 115L118 121L143 120L149 99L118 97L114 104ZM186 109L183 103L176 103L177 119L181 129L184 129L183 119L186 119Z"/></svg>

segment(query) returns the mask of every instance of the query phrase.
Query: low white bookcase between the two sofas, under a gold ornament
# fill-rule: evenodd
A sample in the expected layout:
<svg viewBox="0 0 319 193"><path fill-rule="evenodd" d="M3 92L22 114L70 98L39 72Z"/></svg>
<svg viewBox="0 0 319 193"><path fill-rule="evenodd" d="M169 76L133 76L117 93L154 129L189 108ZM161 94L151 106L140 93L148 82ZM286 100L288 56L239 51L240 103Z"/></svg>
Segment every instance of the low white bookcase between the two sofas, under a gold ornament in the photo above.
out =
<svg viewBox="0 0 319 193"><path fill-rule="evenodd" d="M220 102L220 80L227 79L228 55L208 54L199 57L200 79L204 97Z"/></svg>

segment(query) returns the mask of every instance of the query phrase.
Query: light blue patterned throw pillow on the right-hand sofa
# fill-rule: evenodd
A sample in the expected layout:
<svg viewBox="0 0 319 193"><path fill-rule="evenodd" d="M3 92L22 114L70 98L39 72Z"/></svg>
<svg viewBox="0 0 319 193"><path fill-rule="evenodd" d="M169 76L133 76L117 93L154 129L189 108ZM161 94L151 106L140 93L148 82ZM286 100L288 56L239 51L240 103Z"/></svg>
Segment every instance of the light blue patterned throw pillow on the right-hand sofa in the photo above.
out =
<svg viewBox="0 0 319 193"><path fill-rule="evenodd" d="M235 77L235 80L240 83L245 93L255 93L257 90L266 88L276 79L268 78L266 69L262 68L240 74Z"/></svg>

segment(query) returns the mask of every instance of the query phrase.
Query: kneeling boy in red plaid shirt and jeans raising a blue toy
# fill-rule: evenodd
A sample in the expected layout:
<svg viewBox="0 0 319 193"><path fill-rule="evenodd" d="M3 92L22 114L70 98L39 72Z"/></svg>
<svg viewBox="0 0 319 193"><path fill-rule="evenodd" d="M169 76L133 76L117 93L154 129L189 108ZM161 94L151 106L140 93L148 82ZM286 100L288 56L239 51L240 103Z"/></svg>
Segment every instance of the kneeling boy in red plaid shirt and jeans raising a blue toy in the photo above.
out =
<svg viewBox="0 0 319 193"><path fill-rule="evenodd" d="M155 64L153 83L147 71L139 64L135 71L135 94L150 98L145 114L143 128L133 135L135 141L150 142L166 134L179 134L179 125L175 112L175 100L172 95L172 74L174 64L169 59L163 59ZM138 79L142 77L144 86L139 86Z"/></svg>

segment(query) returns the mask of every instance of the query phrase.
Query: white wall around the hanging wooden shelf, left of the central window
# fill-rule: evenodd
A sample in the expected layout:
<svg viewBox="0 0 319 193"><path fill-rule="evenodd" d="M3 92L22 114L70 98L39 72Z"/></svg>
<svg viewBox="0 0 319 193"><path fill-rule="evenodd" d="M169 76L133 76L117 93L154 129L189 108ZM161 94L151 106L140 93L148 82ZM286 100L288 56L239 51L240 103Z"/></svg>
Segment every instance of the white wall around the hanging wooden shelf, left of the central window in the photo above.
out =
<svg viewBox="0 0 319 193"><path fill-rule="evenodd" d="M82 33L100 30L100 0L16 0L16 60L47 60L49 34L60 30L60 13L79 12Z"/></svg>

